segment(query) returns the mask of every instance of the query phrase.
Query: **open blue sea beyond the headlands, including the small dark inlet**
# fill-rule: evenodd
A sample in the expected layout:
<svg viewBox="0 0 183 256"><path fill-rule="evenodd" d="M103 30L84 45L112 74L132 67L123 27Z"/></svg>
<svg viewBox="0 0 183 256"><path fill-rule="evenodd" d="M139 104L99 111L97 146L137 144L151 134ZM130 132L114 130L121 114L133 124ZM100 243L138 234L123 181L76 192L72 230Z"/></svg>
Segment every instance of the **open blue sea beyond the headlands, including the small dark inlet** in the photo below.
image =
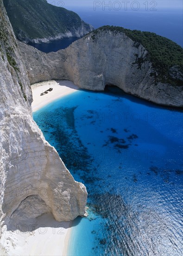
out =
<svg viewBox="0 0 183 256"><path fill-rule="evenodd" d="M52 4L54 3L57 5L59 2L61 3L62 1L52 1ZM150 31L167 37L183 47L182 9L166 9L158 8L158 6L153 7L153 2L156 1L148 1L149 5L145 6L145 1L140 1L140 8L137 11L132 10L132 8L127 8L126 11L124 9L117 11L114 10L113 7L111 8L111 11L109 11L107 7L104 8L104 10L102 10L102 7L94 10L94 2L89 1L90 5L88 7L72 7L71 10L78 13L82 20L95 28L110 25L125 27L132 30ZM145 7L147 8L146 11ZM65 6L65 8L67 8L67 6ZM115 8L117 8L117 6ZM64 38L62 40L53 40L50 43L30 45L45 53L57 52L60 49L65 49L75 40L78 40L78 38Z"/></svg>

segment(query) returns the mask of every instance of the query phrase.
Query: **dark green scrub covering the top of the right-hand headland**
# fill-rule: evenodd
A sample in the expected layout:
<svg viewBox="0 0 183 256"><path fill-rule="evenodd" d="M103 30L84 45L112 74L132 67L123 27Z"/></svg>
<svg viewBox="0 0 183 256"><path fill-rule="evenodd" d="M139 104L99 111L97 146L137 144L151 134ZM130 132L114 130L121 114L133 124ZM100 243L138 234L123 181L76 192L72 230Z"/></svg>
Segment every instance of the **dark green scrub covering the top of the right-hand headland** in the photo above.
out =
<svg viewBox="0 0 183 256"><path fill-rule="evenodd" d="M134 46L139 47L139 43L145 47L149 53L149 60L162 82L180 85L180 81L170 77L170 68L176 66L183 72L183 48L168 38L151 32L130 30L124 27L103 26L92 32L93 38L100 31L122 32L134 41ZM183 83L181 82L181 85Z"/></svg>

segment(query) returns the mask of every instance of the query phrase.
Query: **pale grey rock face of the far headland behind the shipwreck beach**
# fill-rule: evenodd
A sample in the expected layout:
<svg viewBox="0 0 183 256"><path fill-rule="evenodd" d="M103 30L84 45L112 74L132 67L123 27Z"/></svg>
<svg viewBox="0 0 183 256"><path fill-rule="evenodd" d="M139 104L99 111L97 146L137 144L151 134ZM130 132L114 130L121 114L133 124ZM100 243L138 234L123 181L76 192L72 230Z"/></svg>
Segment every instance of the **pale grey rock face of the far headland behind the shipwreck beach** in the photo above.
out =
<svg viewBox="0 0 183 256"><path fill-rule="evenodd" d="M31 83L68 79L88 90L104 90L116 85L126 93L148 101L183 106L183 86L157 81L148 52L124 33L110 30L90 33L57 53L44 54L19 43ZM172 76L183 74L172 67Z"/></svg>

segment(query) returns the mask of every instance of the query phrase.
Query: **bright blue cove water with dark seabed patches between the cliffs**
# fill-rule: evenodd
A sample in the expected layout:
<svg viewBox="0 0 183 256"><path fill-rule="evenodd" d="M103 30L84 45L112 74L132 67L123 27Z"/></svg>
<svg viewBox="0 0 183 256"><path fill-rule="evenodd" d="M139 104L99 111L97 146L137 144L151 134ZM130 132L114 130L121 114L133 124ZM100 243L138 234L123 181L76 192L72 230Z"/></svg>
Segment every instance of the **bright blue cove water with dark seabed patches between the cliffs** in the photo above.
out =
<svg viewBox="0 0 183 256"><path fill-rule="evenodd" d="M183 112L114 88L77 91L34 120L88 190L68 255L183 255Z"/></svg>

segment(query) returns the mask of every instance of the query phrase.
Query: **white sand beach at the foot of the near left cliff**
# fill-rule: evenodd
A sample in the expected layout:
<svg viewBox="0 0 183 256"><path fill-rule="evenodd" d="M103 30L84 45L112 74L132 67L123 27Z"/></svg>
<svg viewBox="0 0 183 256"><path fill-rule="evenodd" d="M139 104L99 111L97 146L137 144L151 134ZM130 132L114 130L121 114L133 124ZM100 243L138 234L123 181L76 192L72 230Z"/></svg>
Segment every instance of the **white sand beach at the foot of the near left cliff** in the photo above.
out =
<svg viewBox="0 0 183 256"><path fill-rule="evenodd" d="M11 256L66 256L71 222L57 222L50 213L39 216L32 232L7 230L2 235L8 255ZM26 228L26 227L25 227ZM4 255L2 253L2 255Z"/></svg>

